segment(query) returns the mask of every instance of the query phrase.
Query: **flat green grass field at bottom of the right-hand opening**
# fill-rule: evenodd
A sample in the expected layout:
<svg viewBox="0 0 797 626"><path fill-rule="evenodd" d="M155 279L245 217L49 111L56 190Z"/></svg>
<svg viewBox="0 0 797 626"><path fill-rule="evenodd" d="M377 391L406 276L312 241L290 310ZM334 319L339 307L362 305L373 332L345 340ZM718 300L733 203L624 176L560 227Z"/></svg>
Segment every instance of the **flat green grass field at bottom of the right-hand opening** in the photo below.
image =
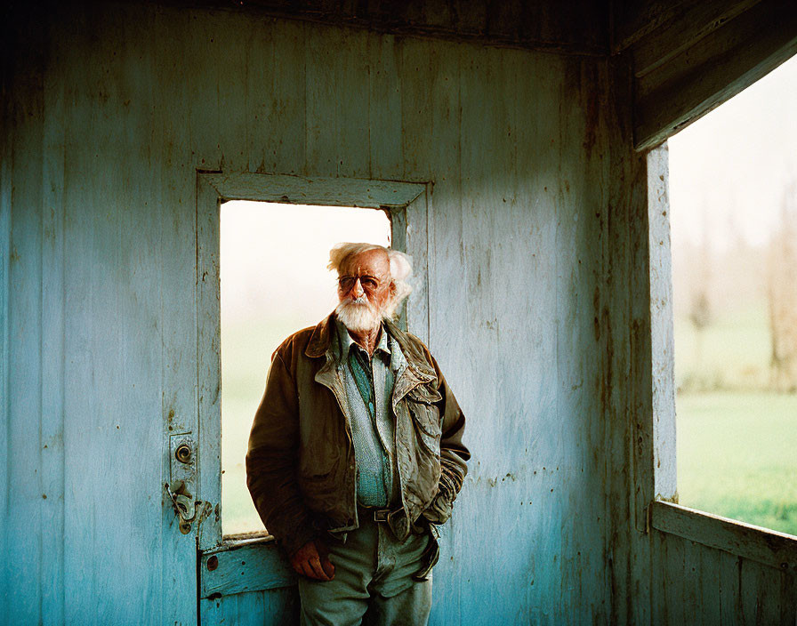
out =
<svg viewBox="0 0 797 626"><path fill-rule="evenodd" d="M797 396L682 394L679 502L797 534Z"/></svg>

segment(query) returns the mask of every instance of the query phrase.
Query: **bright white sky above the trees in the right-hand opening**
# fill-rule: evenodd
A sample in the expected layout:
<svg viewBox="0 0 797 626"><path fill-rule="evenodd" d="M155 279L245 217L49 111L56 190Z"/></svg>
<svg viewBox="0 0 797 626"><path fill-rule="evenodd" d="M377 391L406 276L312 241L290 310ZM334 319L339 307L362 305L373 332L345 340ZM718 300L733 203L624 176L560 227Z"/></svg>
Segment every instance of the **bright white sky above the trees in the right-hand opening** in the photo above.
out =
<svg viewBox="0 0 797 626"><path fill-rule="evenodd" d="M672 245L764 244L797 181L797 57L668 140ZM795 192L793 192L795 193Z"/></svg>

